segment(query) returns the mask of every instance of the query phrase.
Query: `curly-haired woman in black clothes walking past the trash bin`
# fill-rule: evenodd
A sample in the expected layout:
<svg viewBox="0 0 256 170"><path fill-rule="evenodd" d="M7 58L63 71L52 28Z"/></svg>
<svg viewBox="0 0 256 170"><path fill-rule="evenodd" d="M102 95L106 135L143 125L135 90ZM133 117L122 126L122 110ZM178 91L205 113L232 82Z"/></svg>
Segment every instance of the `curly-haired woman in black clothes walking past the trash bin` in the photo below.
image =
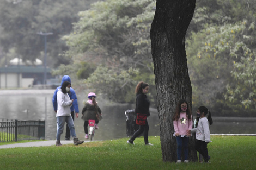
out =
<svg viewBox="0 0 256 170"><path fill-rule="evenodd" d="M150 116L149 113L149 106L150 106L150 102L149 99L147 97L147 93L149 91L149 84L144 83L143 81L139 82L136 86L136 108L135 108L135 112L136 114L145 114L148 116ZM145 124L143 125L139 125L139 129L135 132L135 134L133 134L133 136L130 138L130 140L127 141L127 143L129 144L134 144L133 141L142 133L144 132L144 142L145 145L153 145L151 143L149 143L148 141L148 136L149 136L149 124L148 121L146 119Z"/></svg>

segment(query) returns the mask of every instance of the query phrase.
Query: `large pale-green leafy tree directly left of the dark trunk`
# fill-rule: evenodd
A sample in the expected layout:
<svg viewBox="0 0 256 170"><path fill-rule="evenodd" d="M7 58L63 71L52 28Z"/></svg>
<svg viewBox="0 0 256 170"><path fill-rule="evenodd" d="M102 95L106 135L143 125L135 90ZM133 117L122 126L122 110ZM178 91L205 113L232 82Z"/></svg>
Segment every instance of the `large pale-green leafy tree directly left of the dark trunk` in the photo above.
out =
<svg viewBox="0 0 256 170"><path fill-rule="evenodd" d="M69 46L65 55L74 64L83 61L95 65L95 71L89 78L81 77L80 84L114 102L133 103L135 86L143 80L151 86L149 96L154 106L149 35L154 6L151 0L108 0L79 13L74 32L64 40Z"/></svg>

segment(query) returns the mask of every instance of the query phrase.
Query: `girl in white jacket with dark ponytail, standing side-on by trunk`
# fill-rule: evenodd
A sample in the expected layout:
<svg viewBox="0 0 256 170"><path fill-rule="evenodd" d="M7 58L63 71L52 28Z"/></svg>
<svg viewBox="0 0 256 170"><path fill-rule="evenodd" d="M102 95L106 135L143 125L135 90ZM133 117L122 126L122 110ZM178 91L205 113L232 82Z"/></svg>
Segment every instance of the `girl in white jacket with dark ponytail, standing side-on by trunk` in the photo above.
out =
<svg viewBox="0 0 256 170"><path fill-rule="evenodd" d="M200 114L197 128L188 130L188 133L196 132L196 144L194 148L203 155L204 162L208 162L211 158L208 155L207 144L211 142L209 123L212 124L211 112L205 107L200 106L197 110L197 114ZM209 115L208 115L209 114ZM206 117L208 115L208 117ZM209 120L209 122L208 122Z"/></svg>

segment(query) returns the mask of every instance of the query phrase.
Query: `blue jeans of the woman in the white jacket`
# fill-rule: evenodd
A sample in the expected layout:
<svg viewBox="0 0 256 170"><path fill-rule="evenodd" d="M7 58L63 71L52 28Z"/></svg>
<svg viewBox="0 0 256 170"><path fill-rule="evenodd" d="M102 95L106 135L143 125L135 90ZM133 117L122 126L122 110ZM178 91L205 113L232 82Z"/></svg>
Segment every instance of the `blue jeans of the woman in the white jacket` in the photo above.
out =
<svg viewBox="0 0 256 170"><path fill-rule="evenodd" d="M63 133L65 122L68 124L71 136L76 137L75 125L71 116L58 116L57 118L57 140L60 140L60 135Z"/></svg>

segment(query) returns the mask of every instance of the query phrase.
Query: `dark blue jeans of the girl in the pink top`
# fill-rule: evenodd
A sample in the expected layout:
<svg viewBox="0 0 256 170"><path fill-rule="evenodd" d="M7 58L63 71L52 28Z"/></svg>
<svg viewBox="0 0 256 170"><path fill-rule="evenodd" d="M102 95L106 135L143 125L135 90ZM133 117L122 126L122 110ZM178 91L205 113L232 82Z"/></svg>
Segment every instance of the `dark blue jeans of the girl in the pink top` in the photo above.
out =
<svg viewBox="0 0 256 170"><path fill-rule="evenodd" d="M189 138L188 137L176 136L176 140L177 140L177 157L178 157L178 160L181 160L182 147L184 149L184 160L187 160L187 158L188 158Z"/></svg>

